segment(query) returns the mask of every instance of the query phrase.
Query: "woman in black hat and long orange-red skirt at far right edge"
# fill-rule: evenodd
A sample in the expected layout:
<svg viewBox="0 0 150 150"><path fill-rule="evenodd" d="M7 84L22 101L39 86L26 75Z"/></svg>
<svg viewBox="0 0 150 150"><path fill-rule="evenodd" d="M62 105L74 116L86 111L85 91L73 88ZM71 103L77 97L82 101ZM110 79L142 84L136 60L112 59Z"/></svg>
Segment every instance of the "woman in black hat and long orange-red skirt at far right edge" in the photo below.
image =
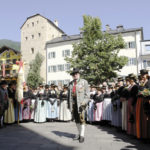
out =
<svg viewBox="0 0 150 150"><path fill-rule="evenodd" d="M138 139L150 140L150 79L148 70L140 70L139 80L139 96L136 104L136 134ZM145 94L140 94L142 92Z"/></svg>

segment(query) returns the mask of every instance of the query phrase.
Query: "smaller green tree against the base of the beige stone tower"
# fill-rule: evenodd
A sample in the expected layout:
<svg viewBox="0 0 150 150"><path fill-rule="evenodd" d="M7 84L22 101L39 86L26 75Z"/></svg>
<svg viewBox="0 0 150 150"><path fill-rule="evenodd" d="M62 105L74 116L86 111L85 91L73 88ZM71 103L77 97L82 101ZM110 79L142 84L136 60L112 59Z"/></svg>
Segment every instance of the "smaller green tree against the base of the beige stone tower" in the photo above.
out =
<svg viewBox="0 0 150 150"><path fill-rule="evenodd" d="M44 57L40 53L37 53L35 59L30 63L27 84L32 88L38 87L43 82L43 78L40 76L43 60Z"/></svg>

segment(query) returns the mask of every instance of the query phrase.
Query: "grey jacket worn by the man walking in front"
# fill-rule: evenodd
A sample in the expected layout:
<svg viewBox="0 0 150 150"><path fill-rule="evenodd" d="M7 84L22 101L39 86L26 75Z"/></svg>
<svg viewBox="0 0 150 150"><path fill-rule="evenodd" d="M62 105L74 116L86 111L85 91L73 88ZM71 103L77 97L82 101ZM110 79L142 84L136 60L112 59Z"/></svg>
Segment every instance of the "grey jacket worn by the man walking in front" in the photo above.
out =
<svg viewBox="0 0 150 150"><path fill-rule="evenodd" d="M69 84L69 98L68 98L68 107L70 111L72 111L72 105L73 105L73 84L74 82L71 81ZM76 84L76 99L77 99L77 107L78 111L81 105L86 105L90 100L90 90L88 86L88 82L84 79L77 80Z"/></svg>

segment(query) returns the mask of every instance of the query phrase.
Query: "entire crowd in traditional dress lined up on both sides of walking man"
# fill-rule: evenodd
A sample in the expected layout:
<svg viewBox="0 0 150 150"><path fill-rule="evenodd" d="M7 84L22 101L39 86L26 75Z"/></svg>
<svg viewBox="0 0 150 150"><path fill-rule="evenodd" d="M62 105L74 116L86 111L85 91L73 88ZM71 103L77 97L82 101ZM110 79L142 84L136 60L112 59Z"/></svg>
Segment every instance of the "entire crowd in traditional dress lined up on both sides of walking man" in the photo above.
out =
<svg viewBox="0 0 150 150"><path fill-rule="evenodd" d="M89 86L90 99L86 107L87 122L105 121L139 139L150 139L150 80L147 70L141 70L138 78L129 74L117 82L104 82ZM33 120L70 121L68 109L68 86L40 85L24 87L24 98L18 103L15 98L16 83L0 84L0 126L16 121Z"/></svg>

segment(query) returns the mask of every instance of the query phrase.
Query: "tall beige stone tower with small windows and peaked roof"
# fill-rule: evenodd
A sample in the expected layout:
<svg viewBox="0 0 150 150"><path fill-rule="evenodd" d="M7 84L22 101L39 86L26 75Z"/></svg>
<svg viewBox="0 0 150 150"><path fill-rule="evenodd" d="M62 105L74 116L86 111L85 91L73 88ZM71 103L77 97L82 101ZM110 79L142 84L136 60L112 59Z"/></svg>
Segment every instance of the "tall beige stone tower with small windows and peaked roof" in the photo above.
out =
<svg viewBox="0 0 150 150"><path fill-rule="evenodd" d="M41 66L41 76L46 82L46 50L45 45L56 37L60 37L64 32L58 27L57 21L36 14L28 17L21 27L21 53L25 65L25 78L27 78L29 64L39 52L44 61Z"/></svg>

